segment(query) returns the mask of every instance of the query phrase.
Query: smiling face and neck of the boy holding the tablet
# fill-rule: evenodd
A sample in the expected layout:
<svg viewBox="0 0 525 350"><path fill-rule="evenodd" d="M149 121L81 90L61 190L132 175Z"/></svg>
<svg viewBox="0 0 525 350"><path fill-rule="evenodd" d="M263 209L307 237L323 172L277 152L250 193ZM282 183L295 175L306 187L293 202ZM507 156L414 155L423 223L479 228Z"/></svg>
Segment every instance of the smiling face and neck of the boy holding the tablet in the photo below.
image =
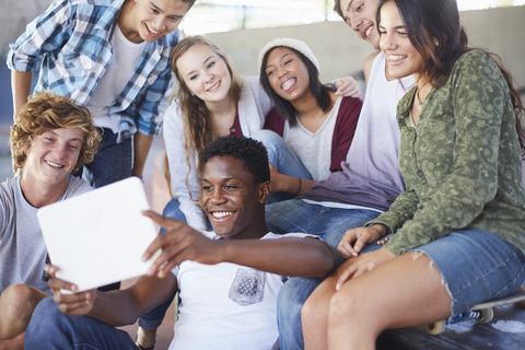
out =
<svg viewBox="0 0 525 350"><path fill-rule="evenodd" d="M266 228L260 230L260 222L265 222L269 182L256 184L242 160L230 155L210 159L201 185L202 208L217 235L258 240L267 233Z"/></svg>

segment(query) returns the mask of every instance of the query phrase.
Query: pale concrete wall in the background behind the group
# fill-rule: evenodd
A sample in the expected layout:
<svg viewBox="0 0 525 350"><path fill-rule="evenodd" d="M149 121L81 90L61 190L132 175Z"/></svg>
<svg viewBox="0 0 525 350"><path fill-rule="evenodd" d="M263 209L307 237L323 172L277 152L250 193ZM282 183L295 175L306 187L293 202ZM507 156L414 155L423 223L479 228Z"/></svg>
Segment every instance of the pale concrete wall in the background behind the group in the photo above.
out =
<svg viewBox="0 0 525 350"><path fill-rule="evenodd" d="M3 60L8 44L15 40L25 25L43 12L51 0L2 0L0 12L0 57ZM472 46L501 56L517 81L525 85L525 7L462 12L462 20ZM323 81L361 69L372 47L359 39L342 22L310 25L243 30L209 35L230 56L235 70L243 75L257 74L259 49L276 37L295 37L311 46L317 56Z"/></svg>

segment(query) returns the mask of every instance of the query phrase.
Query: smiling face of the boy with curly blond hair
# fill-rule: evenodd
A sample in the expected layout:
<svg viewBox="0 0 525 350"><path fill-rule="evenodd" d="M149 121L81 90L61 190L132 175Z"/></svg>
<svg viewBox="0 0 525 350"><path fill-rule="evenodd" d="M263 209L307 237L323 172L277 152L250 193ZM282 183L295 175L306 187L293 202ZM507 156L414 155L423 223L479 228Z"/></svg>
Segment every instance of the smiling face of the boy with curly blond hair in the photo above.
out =
<svg viewBox="0 0 525 350"><path fill-rule="evenodd" d="M80 128L49 129L33 138L24 177L47 185L66 185L77 165L84 133Z"/></svg>

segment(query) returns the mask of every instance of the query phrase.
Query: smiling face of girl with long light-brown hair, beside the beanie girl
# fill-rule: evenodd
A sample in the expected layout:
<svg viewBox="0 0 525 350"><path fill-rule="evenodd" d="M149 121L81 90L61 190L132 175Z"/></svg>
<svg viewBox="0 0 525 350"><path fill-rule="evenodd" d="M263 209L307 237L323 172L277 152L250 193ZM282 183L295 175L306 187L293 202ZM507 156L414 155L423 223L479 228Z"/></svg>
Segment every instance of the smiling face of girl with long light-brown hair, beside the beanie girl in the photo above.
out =
<svg viewBox="0 0 525 350"><path fill-rule="evenodd" d="M210 46L194 45L175 65L178 75L192 95L205 103L222 102L228 98L232 75L226 62Z"/></svg>

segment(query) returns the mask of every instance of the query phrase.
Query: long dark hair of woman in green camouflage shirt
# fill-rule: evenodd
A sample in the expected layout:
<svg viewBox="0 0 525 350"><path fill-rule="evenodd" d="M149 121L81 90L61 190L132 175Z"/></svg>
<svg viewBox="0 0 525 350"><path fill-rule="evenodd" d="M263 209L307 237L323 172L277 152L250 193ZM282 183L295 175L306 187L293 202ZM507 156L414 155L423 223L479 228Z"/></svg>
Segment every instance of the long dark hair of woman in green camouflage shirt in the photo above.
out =
<svg viewBox="0 0 525 350"><path fill-rule="evenodd" d="M468 46L467 34L459 20L456 0L381 0L376 14L377 27L381 23L381 8L387 1L396 3L410 43L424 58L424 75L433 82L434 88L443 86L448 80L456 60L463 54L475 49ZM432 39L436 40L436 46L429 43L424 31ZM525 135L520 121L525 108L514 88L512 75L503 67L498 55L476 49L486 52L498 65L506 80L516 116L515 125L522 147L522 158L525 159Z"/></svg>

